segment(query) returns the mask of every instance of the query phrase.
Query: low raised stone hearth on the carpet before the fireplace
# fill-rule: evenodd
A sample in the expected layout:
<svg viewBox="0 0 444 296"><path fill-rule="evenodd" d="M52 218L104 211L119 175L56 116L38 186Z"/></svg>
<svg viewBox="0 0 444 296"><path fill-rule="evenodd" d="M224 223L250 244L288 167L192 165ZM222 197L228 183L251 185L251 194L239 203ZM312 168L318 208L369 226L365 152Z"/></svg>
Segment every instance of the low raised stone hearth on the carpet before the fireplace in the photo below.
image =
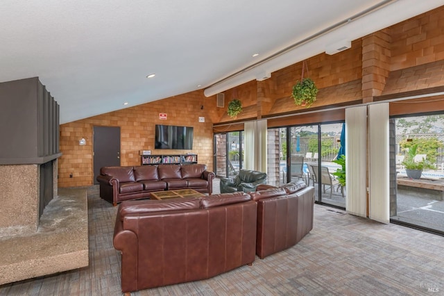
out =
<svg viewBox="0 0 444 296"><path fill-rule="evenodd" d="M60 188L37 230L0 238L0 249L0 285L87 266L87 190Z"/></svg>

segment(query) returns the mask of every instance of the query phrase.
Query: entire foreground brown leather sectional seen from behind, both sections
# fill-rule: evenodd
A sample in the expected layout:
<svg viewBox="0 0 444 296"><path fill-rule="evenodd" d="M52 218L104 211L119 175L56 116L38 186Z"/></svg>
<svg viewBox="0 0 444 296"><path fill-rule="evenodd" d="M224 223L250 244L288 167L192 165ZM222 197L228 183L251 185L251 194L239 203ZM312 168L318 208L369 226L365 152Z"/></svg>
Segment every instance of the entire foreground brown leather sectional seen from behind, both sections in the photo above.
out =
<svg viewBox="0 0 444 296"><path fill-rule="evenodd" d="M124 293L207 279L299 242L313 228L314 187L119 205L114 247Z"/></svg>

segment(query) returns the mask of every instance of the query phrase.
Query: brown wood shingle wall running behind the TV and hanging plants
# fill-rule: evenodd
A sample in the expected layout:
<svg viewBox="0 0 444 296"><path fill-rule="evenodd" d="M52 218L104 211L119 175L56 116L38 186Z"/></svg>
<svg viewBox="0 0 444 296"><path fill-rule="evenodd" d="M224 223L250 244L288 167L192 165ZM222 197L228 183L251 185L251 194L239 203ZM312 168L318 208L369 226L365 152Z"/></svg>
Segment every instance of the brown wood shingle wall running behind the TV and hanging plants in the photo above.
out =
<svg viewBox="0 0 444 296"><path fill-rule="evenodd" d="M300 79L302 63L296 63L271 74L265 81L250 81L225 91L225 107L216 107L216 96L206 98L203 91L181 94L176 97L154 101L112 113L78 120L60 126L59 186L92 185L92 126L121 126L121 165L138 165L138 151L153 149L153 128L156 123L194 126L194 149L198 162L212 169L213 133L243 129L245 120L268 118L270 126L287 124L309 124L343 120L343 110L325 109L371 102L375 96L382 97L390 72L425 65L424 71L433 69L434 63L444 60L444 6L428 13L395 24L359 40L352 41L352 48L328 56L319 54L307 59L309 76L320 89L319 99L306 109L295 106L291 99L293 85ZM440 70L441 73L443 70ZM443 75L429 83L433 87L444 85ZM411 78L414 80L415 76ZM418 84L418 81L415 81ZM411 81L404 81L411 85ZM418 84L418 88L429 85ZM402 88L391 88L402 92ZM228 103L237 98L244 112L232 119L226 113ZM125 98L122 98L124 101ZM396 113L411 110L391 104ZM204 109L200 109L204 106ZM433 104L424 110L443 110ZM435 106L435 107L434 107ZM318 110L318 113L305 113ZM167 122L158 119L158 113L167 113ZM293 116L291 113L294 113ZM282 116L286 115L286 116ZM205 123L197 122L205 116ZM85 138L87 145L79 146L78 140ZM159 151L161 152L161 151ZM169 151L173 152L173 151ZM183 151L181 151L183 152ZM164 153L164 151L162 151ZM176 153L178 153L176 151ZM73 178L69 173L73 172Z"/></svg>

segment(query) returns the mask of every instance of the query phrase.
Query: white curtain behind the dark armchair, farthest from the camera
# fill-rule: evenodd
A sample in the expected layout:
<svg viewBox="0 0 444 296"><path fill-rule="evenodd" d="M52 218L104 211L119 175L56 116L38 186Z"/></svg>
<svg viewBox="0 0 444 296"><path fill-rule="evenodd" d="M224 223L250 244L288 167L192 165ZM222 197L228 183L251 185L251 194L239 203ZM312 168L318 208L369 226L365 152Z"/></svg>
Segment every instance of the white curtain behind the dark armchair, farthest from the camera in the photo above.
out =
<svg viewBox="0 0 444 296"><path fill-rule="evenodd" d="M266 120L246 122L244 134L245 169L266 172Z"/></svg>

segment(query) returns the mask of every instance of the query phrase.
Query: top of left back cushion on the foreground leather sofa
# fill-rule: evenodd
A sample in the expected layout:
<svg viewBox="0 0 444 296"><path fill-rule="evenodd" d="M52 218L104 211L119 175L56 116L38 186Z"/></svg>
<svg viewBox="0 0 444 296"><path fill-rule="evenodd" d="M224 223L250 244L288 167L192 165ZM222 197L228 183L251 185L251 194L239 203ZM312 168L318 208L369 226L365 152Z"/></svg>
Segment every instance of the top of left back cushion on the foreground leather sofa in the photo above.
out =
<svg viewBox="0 0 444 296"><path fill-rule="evenodd" d="M119 205L121 220L128 214L152 213L161 211L193 210L200 208L200 199L196 197L184 197L168 200L129 200Z"/></svg>

